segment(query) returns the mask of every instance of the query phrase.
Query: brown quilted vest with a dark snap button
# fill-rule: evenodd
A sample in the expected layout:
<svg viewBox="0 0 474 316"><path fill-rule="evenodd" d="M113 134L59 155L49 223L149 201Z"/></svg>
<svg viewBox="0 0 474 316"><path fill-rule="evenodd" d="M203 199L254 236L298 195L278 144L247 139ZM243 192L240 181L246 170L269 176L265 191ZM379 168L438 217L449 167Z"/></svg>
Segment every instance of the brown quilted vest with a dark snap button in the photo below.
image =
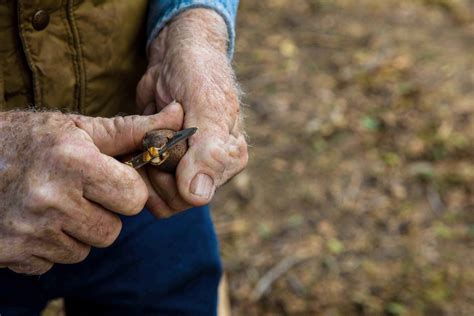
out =
<svg viewBox="0 0 474 316"><path fill-rule="evenodd" d="M146 0L0 0L0 111L135 113Z"/></svg>

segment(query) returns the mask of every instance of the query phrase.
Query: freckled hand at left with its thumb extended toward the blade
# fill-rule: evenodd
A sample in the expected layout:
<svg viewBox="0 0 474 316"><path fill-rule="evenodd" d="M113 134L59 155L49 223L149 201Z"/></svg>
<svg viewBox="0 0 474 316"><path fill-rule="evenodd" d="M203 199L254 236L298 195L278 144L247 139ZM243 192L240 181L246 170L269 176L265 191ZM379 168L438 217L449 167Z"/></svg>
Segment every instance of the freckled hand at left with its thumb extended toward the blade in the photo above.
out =
<svg viewBox="0 0 474 316"><path fill-rule="evenodd" d="M111 119L0 113L0 267L43 274L111 245L122 225L113 212L137 214L148 199L138 172L112 157L182 121L179 105Z"/></svg>

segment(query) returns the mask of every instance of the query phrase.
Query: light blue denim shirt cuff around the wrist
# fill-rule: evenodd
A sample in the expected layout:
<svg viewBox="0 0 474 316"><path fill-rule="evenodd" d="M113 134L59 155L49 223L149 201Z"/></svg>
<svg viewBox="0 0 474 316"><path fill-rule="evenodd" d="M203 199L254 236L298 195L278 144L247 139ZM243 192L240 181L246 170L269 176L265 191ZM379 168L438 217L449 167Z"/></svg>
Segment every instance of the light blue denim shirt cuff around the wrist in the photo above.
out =
<svg viewBox="0 0 474 316"><path fill-rule="evenodd" d="M150 0L147 23L147 47L160 30L179 13L191 8L208 8L219 13L227 24L227 55L232 58L235 40L235 17L239 0Z"/></svg>

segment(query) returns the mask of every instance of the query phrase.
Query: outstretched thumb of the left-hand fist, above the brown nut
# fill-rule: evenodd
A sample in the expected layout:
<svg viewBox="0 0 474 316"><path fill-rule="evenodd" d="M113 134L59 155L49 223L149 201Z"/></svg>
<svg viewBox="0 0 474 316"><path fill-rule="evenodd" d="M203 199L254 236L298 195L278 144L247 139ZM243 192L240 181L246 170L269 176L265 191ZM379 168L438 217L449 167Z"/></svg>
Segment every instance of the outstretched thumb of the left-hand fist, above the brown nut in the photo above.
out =
<svg viewBox="0 0 474 316"><path fill-rule="evenodd" d="M117 156L141 149L145 134L154 129L180 130L183 109L177 102L170 103L160 113L150 116L130 115L113 118L92 118L71 115L76 126L85 131L99 150Z"/></svg>

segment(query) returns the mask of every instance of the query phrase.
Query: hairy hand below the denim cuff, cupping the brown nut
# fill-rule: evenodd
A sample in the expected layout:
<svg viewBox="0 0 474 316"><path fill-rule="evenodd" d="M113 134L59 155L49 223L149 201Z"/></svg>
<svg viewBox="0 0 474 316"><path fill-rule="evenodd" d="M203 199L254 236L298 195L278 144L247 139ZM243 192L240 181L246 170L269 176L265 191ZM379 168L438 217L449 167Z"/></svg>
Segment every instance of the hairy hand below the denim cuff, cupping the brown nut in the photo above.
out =
<svg viewBox="0 0 474 316"><path fill-rule="evenodd" d="M226 50L224 20L206 9L180 14L151 44L148 70L137 87L141 112L155 113L177 100L184 127L199 128L176 178L151 166L141 171L150 191L147 207L158 216L208 203L247 164L238 87Z"/></svg>

